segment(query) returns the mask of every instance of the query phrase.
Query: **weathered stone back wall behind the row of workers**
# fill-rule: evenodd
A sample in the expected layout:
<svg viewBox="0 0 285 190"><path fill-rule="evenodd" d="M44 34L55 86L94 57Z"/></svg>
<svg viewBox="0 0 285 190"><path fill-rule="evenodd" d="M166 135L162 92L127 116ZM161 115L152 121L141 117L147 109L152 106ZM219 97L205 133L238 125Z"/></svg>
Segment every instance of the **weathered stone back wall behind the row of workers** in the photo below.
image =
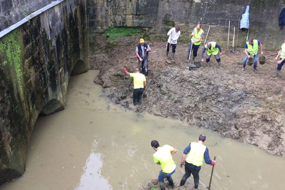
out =
<svg viewBox="0 0 285 190"><path fill-rule="evenodd" d="M266 50L278 50L285 35L285 30L278 26L283 0L90 0L90 51L93 53L96 33L104 32L108 26L147 27L144 36L149 40L163 41L167 40L166 33L172 26L179 26L181 37L178 43L187 44L198 22L202 24L205 36L211 25L207 41L217 41L226 49L229 21L229 46L232 46L234 26L237 34L238 19L247 5L250 6L249 37L259 39ZM246 35L247 30L239 30L238 47L244 47Z"/></svg>

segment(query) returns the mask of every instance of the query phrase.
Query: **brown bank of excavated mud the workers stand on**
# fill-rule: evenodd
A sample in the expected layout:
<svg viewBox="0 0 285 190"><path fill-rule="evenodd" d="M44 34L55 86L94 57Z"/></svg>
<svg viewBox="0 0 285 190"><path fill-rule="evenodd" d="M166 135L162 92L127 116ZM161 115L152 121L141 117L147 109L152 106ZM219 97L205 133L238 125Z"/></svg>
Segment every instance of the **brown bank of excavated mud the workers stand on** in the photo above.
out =
<svg viewBox="0 0 285 190"><path fill-rule="evenodd" d="M177 45L175 63L165 61L165 43L149 42L149 76L152 79L141 106L132 105L132 79L126 76L125 99L123 96L123 67L134 71L138 67L135 40L120 38L103 64L95 82L104 87L104 95L115 104L135 112L146 111L162 117L185 121L191 125L209 128L237 141L250 143L271 154L285 155L284 78L282 70L273 78L275 56L268 57L264 65L246 66L242 71L243 49L236 54L222 47L222 68L214 57L211 67L201 62L194 71L185 63L188 44ZM202 45L199 47L198 57ZM275 52L265 51L265 55ZM197 59L196 58L196 59Z"/></svg>

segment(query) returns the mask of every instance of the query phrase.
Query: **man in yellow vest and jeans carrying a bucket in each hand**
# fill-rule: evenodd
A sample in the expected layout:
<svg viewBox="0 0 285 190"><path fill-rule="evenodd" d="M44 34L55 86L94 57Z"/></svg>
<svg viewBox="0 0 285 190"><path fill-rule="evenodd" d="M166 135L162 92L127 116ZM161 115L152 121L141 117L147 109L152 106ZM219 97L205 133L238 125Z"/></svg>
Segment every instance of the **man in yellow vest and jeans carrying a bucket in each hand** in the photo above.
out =
<svg viewBox="0 0 285 190"><path fill-rule="evenodd" d="M248 42L245 43L245 58L243 59L243 68L242 70L245 70L245 65L247 59L250 58L252 55L255 59L255 62L253 63L253 71L256 71L257 66L257 57L258 57L258 46L260 46L261 54L263 54L263 47L259 40L253 40L252 38L249 39Z"/></svg>

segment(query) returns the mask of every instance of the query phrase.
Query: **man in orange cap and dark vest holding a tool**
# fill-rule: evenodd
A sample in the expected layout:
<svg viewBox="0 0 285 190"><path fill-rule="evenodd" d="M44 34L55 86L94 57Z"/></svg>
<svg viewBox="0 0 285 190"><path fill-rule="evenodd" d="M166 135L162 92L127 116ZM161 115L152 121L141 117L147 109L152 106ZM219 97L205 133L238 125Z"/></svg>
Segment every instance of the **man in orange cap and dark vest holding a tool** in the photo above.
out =
<svg viewBox="0 0 285 190"><path fill-rule="evenodd" d="M135 49L135 54L139 59L139 69L141 70L141 73L145 73L146 76L148 75L148 52L150 52L150 46L144 43L143 38L139 39L139 44Z"/></svg>

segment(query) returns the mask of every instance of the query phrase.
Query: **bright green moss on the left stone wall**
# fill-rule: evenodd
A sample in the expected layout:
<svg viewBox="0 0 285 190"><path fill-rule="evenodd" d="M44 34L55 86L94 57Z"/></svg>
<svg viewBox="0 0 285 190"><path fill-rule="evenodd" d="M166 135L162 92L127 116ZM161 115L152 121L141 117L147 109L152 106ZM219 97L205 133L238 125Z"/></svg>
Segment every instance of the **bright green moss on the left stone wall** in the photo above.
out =
<svg viewBox="0 0 285 190"><path fill-rule="evenodd" d="M7 63L12 67L14 64L17 82L19 85L20 93L23 95L22 87L22 70L21 70L21 46L18 41L18 37L21 35L20 30L16 29L7 35L3 36L0 41L0 53L5 54L6 60L2 62L4 66ZM6 50L6 51L5 51Z"/></svg>

